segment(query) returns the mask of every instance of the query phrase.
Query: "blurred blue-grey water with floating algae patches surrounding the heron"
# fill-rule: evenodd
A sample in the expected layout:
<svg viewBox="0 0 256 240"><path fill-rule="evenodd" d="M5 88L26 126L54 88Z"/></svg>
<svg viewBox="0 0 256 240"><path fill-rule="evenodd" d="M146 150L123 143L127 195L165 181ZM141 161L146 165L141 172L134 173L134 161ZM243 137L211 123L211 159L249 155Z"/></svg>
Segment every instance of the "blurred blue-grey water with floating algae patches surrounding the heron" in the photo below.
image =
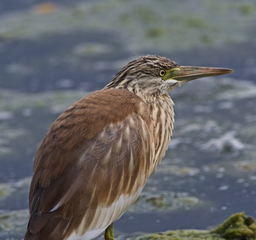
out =
<svg viewBox="0 0 256 240"><path fill-rule="evenodd" d="M52 122L147 54L234 73L170 93L169 150L116 238L256 217L255 26L254 0L1 0L0 240L24 236L34 155Z"/></svg>

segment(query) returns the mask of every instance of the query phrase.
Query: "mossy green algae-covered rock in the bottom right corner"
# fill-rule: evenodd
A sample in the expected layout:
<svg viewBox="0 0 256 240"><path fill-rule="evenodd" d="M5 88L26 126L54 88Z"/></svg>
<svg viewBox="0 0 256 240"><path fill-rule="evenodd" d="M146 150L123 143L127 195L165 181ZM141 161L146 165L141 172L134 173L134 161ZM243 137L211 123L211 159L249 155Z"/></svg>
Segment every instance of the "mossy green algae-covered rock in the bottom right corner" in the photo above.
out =
<svg viewBox="0 0 256 240"><path fill-rule="evenodd" d="M255 240L256 221L244 213L231 215L213 230L172 230L138 236L134 240Z"/></svg>

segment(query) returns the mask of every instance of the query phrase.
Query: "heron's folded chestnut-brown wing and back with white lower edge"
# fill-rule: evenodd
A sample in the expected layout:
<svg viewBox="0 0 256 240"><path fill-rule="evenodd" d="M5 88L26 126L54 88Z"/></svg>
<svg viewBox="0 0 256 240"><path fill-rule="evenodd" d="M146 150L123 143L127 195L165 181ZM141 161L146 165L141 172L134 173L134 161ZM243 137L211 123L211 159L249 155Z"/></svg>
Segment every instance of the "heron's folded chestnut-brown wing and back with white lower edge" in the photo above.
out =
<svg viewBox="0 0 256 240"><path fill-rule="evenodd" d="M96 91L69 107L36 152L24 239L83 236L119 218L150 174L150 133L147 106L127 90Z"/></svg>

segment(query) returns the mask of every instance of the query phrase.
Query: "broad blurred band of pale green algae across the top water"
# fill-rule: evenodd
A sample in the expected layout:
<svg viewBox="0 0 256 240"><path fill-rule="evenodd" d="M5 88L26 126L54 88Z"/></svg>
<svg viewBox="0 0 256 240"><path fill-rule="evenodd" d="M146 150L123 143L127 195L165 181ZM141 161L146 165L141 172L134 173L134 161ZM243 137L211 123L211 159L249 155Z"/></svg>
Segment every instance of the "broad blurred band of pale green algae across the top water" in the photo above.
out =
<svg viewBox="0 0 256 240"><path fill-rule="evenodd" d="M254 41L248 34L248 22L255 25L255 9L252 1L241 4L238 0L200 0L197 4L177 0L150 0L147 4L142 0L85 1L66 8L56 5L50 14L38 14L34 7L6 14L0 18L0 36L5 40L31 39L45 33L97 30L122 36L136 51L218 46Z"/></svg>

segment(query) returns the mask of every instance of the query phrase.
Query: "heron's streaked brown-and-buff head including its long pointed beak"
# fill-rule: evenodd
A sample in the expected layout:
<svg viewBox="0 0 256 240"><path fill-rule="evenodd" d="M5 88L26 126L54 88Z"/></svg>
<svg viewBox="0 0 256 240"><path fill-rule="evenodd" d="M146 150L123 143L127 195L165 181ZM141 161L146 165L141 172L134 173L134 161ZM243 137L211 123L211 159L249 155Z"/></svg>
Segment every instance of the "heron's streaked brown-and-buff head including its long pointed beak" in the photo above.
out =
<svg viewBox="0 0 256 240"><path fill-rule="evenodd" d="M135 93L162 95L200 77L231 73L226 68L180 66L165 57L138 57L123 67L105 88L124 88Z"/></svg>

